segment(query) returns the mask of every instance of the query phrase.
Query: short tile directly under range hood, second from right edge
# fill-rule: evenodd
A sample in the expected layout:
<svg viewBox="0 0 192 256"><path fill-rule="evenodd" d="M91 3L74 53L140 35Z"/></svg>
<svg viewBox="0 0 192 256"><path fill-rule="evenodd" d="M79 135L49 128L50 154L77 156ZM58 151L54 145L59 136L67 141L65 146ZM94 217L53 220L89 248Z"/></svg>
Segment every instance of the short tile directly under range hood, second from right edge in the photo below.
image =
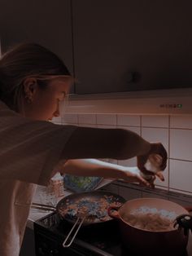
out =
<svg viewBox="0 0 192 256"><path fill-rule="evenodd" d="M168 116L142 116L142 126L168 128Z"/></svg>

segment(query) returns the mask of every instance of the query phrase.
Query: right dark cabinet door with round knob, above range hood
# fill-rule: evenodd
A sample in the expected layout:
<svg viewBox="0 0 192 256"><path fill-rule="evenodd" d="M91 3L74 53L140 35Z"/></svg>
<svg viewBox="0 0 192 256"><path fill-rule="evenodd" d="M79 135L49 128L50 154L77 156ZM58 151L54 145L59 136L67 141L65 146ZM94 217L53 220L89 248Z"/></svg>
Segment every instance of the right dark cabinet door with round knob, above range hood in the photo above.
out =
<svg viewBox="0 0 192 256"><path fill-rule="evenodd" d="M76 93L192 85L190 0L72 0Z"/></svg>

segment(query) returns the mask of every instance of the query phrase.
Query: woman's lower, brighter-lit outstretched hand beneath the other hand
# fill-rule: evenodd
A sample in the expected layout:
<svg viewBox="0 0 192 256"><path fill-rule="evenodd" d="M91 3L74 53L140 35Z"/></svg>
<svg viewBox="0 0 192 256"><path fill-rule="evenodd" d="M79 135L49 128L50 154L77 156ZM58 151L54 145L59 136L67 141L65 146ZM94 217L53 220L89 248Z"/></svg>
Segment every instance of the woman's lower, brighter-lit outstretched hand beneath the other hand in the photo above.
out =
<svg viewBox="0 0 192 256"><path fill-rule="evenodd" d="M139 183L142 186L146 186L149 188L155 188L154 181L156 176L164 180L164 175L161 172L151 175L150 180L146 180L143 178L141 171L137 167L125 167L124 169L124 181L128 183Z"/></svg>

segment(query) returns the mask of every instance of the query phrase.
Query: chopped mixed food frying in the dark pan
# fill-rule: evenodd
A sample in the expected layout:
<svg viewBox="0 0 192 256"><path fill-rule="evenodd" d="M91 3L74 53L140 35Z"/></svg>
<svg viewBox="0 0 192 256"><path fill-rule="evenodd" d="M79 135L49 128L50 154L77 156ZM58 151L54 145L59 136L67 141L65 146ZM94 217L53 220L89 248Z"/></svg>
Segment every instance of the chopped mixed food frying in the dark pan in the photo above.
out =
<svg viewBox="0 0 192 256"><path fill-rule="evenodd" d="M59 208L59 214L65 218L74 219L87 216L86 222L95 223L110 220L107 210L109 206L120 206L122 203L115 196L91 198L85 196L76 201L67 201Z"/></svg>

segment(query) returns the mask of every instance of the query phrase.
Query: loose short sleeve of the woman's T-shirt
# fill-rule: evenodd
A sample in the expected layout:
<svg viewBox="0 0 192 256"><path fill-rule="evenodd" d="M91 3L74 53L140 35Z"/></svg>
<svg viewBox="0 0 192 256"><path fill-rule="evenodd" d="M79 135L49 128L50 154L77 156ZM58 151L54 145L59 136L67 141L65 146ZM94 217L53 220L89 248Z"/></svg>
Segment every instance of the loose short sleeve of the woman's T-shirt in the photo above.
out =
<svg viewBox="0 0 192 256"><path fill-rule="evenodd" d="M76 126L33 121L0 109L0 179L46 185Z"/></svg>

